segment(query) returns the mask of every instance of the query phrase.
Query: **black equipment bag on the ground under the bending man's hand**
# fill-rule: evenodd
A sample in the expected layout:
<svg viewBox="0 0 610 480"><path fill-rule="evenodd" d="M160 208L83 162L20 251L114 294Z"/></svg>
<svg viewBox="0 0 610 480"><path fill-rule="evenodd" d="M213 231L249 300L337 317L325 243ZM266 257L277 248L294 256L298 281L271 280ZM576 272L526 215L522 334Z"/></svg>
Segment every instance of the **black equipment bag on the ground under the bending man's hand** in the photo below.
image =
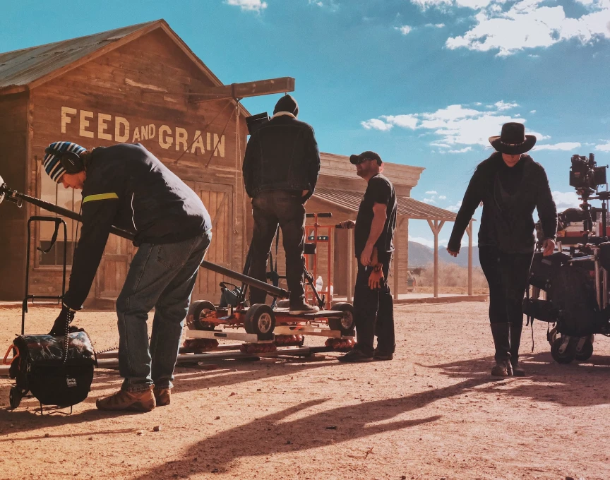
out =
<svg viewBox="0 0 610 480"><path fill-rule="evenodd" d="M20 335L13 340L11 378L21 395L28 391L43 405L71 407L88 397L97 366L91 340L84 330L64 337Z"/></svg>

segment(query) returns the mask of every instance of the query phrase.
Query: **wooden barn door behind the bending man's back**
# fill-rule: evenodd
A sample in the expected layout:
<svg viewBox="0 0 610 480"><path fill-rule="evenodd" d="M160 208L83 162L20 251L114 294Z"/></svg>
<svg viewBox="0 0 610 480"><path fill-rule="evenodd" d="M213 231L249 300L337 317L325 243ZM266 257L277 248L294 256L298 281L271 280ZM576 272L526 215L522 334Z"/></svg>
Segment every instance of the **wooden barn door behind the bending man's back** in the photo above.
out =
<svg viewBox="0 0 610 480"><path fill-rule="evenodd" d="M230 185L207 184L203 181L187 181L193 188L212 218L212 244L205 260L225 268L241 272L243 265L232 265L233 252L233 187ZM193 290L193 300L206 299L217 303L220 300L222 280L233 280L218 275L205 268L199 269L197 283Z"/></svg>

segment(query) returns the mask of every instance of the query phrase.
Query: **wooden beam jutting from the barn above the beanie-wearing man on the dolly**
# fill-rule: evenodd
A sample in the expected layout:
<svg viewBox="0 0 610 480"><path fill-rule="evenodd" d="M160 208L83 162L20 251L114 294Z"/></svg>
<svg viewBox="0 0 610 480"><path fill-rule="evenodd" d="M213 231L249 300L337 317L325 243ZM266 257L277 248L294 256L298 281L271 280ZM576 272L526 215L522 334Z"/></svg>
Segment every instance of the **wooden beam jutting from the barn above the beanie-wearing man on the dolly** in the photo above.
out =
<svg viewBox="0 0 610 480"><path fill-rule="evenodd" d="M271 95L273 93L294 92L294 78L280 77L255 82L232 83L218 87L205 87L191 92L191 102L201 103L209 100L221 100L225 98L258 97L260 95Z"/></svg>

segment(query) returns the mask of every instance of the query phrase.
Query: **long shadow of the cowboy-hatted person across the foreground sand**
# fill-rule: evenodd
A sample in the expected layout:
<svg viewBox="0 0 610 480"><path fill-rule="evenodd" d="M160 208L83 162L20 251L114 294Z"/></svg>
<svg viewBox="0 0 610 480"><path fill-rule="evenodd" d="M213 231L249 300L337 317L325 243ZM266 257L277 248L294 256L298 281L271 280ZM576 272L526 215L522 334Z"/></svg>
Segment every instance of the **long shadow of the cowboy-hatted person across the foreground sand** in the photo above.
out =
<svg viewBox="0 0 610 480"><path fill-rule="evenodd" d="M229 464L240 457L265 456L275 453L308 450L325 445L342 443L354 438L364 438L388 431L412 428L431 423L441 415L426 416L419 419L405 419L385 422L396 416L412 412L439 400L461 395L465 390L489 383L489 377L470 378L445 388L418 392L407 397L376 400L361 404L346 405L324 410L299 419L285 421L288 416L299 414L304 409L317 407L328 400L310 400L294 405L280 412L275 412L256 419L248 424L222 431L215 436L193 443L184 453L183 460L167 462L147 472L134 476L134 479L145 480L166 478L178 474L189 477L209 472L222 472L229 469ZM377 424L384 421L383 424ZM327 426L337 426L329 430ZM253 438L256 443L253 444ZM340 450L340 447L337 447ZM203 464L202 455L214 452L213 460ZM340 455L345 455L341 452Z"/></svg>

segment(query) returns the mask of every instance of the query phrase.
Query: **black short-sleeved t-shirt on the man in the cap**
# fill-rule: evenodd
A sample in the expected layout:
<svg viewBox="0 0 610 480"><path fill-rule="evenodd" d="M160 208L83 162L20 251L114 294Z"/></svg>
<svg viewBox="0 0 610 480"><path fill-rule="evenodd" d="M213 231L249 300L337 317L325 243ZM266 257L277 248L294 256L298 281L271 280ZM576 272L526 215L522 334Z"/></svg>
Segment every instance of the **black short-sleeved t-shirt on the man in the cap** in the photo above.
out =
<svg viewBox="0 0 610 480"><path fill-rule="evenodd" d="M360 258L364 246L366 246L366 241L369 239L374 215L374 203L387 205L383 232L381 232L375 244L379 260L384 261L390 257L390 253L394 250L392 239L396 228L396 194L392 182L382 174L376 174L369 180L369 185L366 186L366 192L364 192L364 197L360 202L354 232L356 258Z"/></svg>

